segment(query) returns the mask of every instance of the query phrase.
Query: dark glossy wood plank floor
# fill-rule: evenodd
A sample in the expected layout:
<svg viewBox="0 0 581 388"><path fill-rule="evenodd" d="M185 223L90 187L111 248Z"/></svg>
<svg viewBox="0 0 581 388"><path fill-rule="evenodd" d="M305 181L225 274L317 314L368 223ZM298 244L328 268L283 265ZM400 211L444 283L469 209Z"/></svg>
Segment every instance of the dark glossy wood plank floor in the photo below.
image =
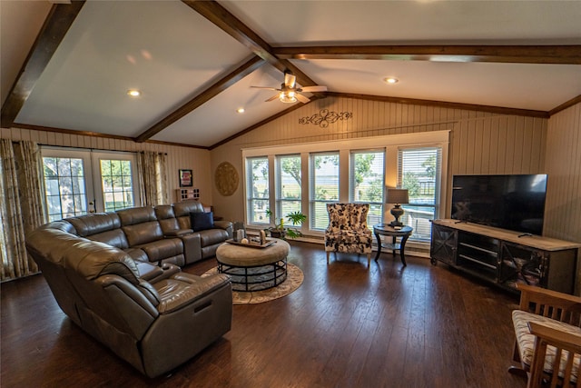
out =
<svg viewBox="0 0 581 388"><path fill-rule="evenodd" d="M525 387L507 373L517 298L444 264L292 242L304 284L233 307L232 330L149 380L60 311L41 275L2 284L2 387ZM206 260L184 268L202 274ZM188 335L188 333L183 333Z"/></svg>

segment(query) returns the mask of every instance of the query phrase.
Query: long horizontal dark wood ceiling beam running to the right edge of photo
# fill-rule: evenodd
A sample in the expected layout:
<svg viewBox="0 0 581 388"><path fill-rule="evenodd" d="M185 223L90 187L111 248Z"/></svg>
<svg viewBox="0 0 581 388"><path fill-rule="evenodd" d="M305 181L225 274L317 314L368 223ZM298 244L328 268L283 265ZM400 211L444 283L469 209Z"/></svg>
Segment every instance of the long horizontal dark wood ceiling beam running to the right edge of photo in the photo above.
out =
<svg viewBox="0 0 581 388"><path fill-rule="evenodd" d="M281 59L375 59L581 65L581 45L355 45L274 47Z"/></svg>

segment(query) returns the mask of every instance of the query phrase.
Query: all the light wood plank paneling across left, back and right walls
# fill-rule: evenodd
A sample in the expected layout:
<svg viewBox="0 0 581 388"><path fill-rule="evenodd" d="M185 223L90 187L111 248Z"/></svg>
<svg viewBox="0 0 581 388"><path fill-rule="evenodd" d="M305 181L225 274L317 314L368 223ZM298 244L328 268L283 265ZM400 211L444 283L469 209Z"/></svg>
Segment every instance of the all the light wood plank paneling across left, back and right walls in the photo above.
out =
<svg viewBox="0 0 581 388"><path fill-rule="evenodd" d="M241 174L241 148L274 144L326 142L338 139L404 134L450 129L448 176L453 174L536 174L547 173L549 194L547 234L581 241L579 192L581 155L579 142L581 104L554 115L550 120L490 114L443 107L406 105L328 97L307 104L284 117L235 138L212 152L165 144L137 144L121 139L62 134L25 129L0 129L0 135L40 144L122 151L151 150L168 154L168 182L178 187L177 171L192 168L194 186L202 202L213 204L219 215L241 220L244 200L241 184L233 195L223 197L212 184L218 164L228 161ZM298 124L300 117L319 114L321 109L350 112L353 117L327 128ZM550 123L550 131L547 130ZM550 133L550 136L547 134ZM546 158L547 157L547 165ZM451 180L449 180L451 187ZM448 196L450 190L448 190ZM173 191L171 198L173 199ZM450 203L448 198L447 203ZM566 210L560 210L566 208ZM556 209L556 211L554 210ZM450 209L445 209L448 216ZM558 214L571 214L563 220Z"/></svg>

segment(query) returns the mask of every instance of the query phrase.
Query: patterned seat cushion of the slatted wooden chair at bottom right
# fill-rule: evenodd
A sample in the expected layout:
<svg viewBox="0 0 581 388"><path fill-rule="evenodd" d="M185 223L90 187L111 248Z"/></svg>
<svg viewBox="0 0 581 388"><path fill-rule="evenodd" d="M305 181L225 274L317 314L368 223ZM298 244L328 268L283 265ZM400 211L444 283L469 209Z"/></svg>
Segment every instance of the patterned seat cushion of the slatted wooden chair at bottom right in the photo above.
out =
<svg viewBox="0 0 581 388"><path fill-rule="evenodd" d="M527 365L533 363L533 353L535 352L535 335L530 333L528 329L528 323L540 323L547 327L576 335L581 335L581 328L573 326L568 323L563 323L556 321L551 318L547 318L542 315L537 315L535 313L528 313L521 310L515 310L512 312L512 323L515 326L515 334L517 335L517 345L518 353L520 354L520 360ZM545 358L545 366L543 369L547 373L551 373L553 370L553 363L555 363L555 346L547 346L547 357ZM563 377L565 371L566 357L568 355L567 351L563 351L561 355L561 366L559 368L559 376ZM577 373L579 370L579 363L581 363L581 355L575 355L575 361L573 363L572 371L572 381L576 383Z"/></svg>

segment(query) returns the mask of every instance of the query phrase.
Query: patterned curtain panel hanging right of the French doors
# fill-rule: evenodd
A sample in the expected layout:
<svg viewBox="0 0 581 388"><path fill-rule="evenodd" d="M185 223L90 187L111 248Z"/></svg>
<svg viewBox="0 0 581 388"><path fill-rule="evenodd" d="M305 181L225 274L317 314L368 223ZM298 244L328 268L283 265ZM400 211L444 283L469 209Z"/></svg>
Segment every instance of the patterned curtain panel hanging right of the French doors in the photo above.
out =
<svg viewBox="0 0 581 388"><path fill-rule="evenodd" d="M168 204L167 155L142 151L137 158L143 205Z"/></svg>

